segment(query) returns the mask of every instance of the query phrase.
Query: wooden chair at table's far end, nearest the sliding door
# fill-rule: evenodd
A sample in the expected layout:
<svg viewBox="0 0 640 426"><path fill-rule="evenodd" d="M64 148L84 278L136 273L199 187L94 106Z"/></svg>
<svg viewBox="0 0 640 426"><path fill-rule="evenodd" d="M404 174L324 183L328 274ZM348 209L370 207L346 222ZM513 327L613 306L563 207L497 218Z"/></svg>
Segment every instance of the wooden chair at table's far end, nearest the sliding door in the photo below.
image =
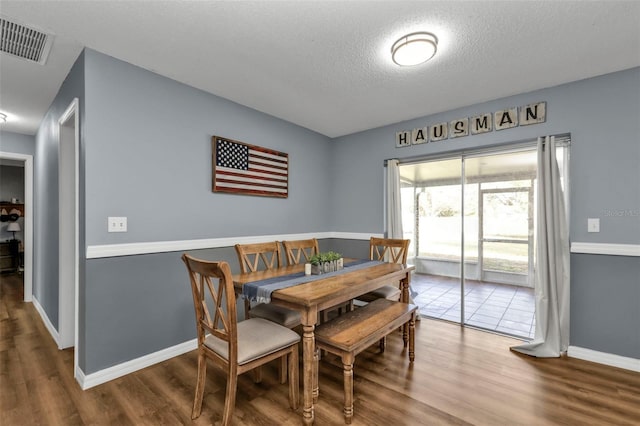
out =
<svg viewBox="0 0 640 426"><path fill-rule="evenodd" d="M369 259L390 263L407 263L410 242L411 240L371 237L369 240ZM376 299L400 300L401 293L399 284L394 283L358 296L357 300L362 302L373 302Z"/></svg>

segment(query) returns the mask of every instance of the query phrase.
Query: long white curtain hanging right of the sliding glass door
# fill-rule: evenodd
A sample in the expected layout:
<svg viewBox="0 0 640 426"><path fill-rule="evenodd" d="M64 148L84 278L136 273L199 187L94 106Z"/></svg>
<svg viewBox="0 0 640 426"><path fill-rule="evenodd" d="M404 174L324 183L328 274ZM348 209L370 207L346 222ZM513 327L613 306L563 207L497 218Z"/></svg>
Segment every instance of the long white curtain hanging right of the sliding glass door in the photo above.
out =
<svg viewBox="0 0 640 426"><path fill-rule="evenodd" d="M569 345L569 229L553 136L538 138L534 339L511 349L558 357Z"/></svg>

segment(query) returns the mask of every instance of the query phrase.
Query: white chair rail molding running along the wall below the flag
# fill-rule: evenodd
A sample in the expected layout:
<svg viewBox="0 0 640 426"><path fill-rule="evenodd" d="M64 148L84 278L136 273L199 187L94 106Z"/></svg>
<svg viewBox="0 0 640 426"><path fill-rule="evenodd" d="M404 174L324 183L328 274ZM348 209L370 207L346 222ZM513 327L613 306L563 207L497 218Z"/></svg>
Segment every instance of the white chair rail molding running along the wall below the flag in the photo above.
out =
<svg viewBox="0 0 640 426"><path fill-rule="evenodd" d="M236 244L254 244L267 241L306 240L308 238L341 238L346 240L369 240L381 234L355 232L314 232L307 234L259 235L251 237L207 238L184 241L151 241L146 243L91 245L87 247L87 259L133 256L139 254L168 253L172 251L201 250L219 247L233 247Z"/></svg>

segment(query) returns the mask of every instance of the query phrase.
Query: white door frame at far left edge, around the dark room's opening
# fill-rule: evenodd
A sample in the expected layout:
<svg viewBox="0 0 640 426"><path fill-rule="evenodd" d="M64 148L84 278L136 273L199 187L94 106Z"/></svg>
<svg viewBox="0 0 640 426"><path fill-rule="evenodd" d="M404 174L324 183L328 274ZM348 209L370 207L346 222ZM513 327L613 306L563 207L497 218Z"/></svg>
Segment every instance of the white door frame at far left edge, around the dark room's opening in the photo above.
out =
<svg viewBox="0 0 640 426"><path fill-rule="evenodd" d="M24 162L24 275L25 302L33 301L33 155L0 151L0 158Z"/></svg>

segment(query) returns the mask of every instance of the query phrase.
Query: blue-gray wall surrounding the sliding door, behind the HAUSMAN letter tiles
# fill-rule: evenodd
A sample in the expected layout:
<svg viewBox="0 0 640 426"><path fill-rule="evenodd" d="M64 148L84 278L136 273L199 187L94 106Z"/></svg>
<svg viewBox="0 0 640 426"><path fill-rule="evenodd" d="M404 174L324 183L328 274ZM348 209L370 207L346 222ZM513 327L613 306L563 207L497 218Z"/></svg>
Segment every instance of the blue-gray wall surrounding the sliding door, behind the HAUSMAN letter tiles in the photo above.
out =
<svg viewBox="0 0 640 426"><path fill-rule="evenodd" d="M547 102L547 121L542 124L395 148L397 131L541 101ZM336 231L384 231L380 188L385 159L443 154L561 133L572 137L571 241L640 244L640 68L336 139L333 179L340 191L334 192L330 221ZM589 217L601 219L600 233L587 233ZM598 265L598 274L590 274L591 268L582 270L589 262L572 255L570 344L640 358L640 345L628 338L638 336L638 260L594 258L597 262L592 265ZM607 277L606 284L603 277ZM610 292L603 291L603 286ZM594 317L595 300L598 314ZM627 303L621 305L620 300ZM598 327L594 327L595 318Z"/></svg>

